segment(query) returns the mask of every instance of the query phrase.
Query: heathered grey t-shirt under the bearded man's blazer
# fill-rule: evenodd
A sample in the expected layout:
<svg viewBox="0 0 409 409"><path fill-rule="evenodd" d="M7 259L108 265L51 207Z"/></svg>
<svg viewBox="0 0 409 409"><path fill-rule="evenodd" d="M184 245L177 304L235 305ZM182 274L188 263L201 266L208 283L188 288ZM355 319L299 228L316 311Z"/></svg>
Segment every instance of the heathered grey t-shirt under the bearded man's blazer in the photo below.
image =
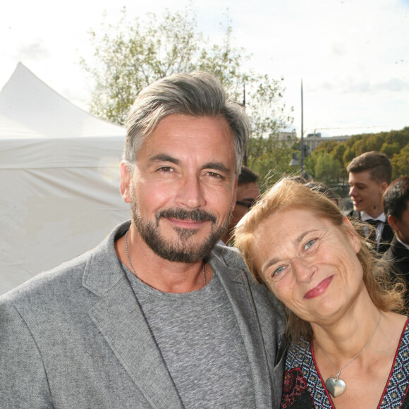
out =
<svg viewBox="0 0 409 409"><path fill-rule="evenodd" d="M192 293L162 293L126 267L185 408L255 408L236 317L219 279Z"/></svg>

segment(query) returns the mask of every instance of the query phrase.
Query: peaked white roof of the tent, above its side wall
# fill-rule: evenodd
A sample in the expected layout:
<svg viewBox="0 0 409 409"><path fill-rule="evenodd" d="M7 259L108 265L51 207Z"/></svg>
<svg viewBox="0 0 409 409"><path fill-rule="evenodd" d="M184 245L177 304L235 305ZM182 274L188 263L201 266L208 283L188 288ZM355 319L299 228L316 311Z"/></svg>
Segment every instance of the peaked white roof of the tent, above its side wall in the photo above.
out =
<svg viewBox="0 0 409 409"><path fill-rule="evenodd" d="M0 92L0 138L123 136L123 127L78 108L18 63Z"/></svg>

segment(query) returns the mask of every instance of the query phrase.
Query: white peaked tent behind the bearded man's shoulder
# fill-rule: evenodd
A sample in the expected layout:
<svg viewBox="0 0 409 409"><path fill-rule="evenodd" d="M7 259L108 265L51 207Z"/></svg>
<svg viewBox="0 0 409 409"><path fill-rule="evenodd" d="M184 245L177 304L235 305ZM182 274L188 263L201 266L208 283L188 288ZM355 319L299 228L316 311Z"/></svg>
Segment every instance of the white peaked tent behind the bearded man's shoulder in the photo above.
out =
<svg viewBox="0 0 409 409"><path fill-rule="evenodd" d="M128 219L119 192L124 136L18 63L0 92L0 294Z"/></svg>

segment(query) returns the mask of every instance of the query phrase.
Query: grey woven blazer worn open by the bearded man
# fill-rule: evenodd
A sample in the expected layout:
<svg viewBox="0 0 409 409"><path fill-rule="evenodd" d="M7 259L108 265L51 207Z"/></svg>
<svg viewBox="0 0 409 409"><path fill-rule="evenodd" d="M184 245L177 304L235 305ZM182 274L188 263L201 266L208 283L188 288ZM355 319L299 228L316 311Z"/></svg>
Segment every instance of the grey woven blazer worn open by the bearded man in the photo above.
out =
<svg viewBox="0 0 409 409"><path fill-rule="evenodd" d="M114 250L129 223L0 297L1 408L181 408ZM209 262L243 336L256 408L277 408L281 307L236 250L217 245Z"/></svg>

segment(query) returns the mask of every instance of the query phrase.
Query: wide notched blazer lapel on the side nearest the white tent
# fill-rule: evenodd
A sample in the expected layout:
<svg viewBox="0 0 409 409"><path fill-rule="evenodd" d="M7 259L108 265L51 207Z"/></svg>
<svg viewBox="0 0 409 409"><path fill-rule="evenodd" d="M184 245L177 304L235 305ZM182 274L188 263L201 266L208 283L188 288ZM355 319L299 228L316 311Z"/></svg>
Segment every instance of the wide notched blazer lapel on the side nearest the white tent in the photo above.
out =
<svg viewBox="0 0 409 409"><path fill-rule="evenodd" d="M83 286L100 298L89 315L152 408L181 408L178 393L114 250L115 239L128 226L129 222L118 226L94 250L85 267Z"/></svg>

